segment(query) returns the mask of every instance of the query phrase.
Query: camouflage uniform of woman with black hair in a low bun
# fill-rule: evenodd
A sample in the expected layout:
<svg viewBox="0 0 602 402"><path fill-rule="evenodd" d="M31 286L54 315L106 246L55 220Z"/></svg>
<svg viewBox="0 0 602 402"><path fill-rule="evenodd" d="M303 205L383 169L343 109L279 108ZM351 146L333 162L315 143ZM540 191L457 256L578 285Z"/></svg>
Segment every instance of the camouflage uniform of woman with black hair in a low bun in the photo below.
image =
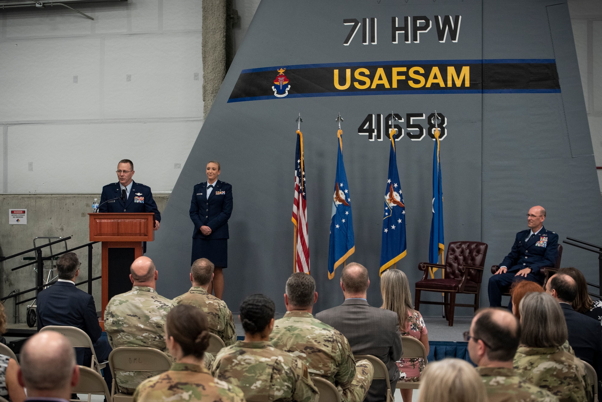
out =
<svg viewBox="0 0 602 402"><path fill-rule="evenodd" d="M211 373L238 386L248 400L317 402L305 363L270 342L238 341L217 354Z"/></svg>

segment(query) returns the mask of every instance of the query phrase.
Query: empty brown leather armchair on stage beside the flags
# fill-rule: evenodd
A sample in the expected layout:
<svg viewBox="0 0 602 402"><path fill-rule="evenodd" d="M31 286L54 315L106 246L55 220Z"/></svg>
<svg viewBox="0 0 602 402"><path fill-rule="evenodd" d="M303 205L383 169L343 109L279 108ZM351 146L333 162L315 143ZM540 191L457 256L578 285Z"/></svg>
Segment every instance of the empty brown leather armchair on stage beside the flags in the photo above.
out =
<svg viewBox="0 0 602 402"><path fill-rule="evenodd" d="M487 244L480 241L452 241L447 246L445 265L421 262L418 269L424 271L422 280L416 282L415 309L423 305L442 305L445 318L450 327L453 326L453 316L456 306L479 309L481 280L483 267L487 256ZM444 279L430 279L429 268L441 268L445 271ZM422 291L443 293L445 301L422 301ZM474 294L474 305L456 304L456 294Z"/></svg>

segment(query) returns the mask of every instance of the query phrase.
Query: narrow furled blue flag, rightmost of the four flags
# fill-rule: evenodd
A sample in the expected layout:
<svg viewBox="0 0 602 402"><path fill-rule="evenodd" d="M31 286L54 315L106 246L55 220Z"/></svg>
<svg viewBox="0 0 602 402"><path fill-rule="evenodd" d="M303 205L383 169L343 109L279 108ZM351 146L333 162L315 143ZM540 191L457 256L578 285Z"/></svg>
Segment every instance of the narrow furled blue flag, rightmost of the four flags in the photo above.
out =
<svg viewBox="0 0 602 402"><path fill-rule="evenodd" d="M435 117L436 119L436 117ZM443 251L445 241L443 240L443 191L441 189L441 161L439 160L439 130L435 129L435 149L433 150L433 220L430 223L430 244L429 244L429 262L430 264L441 263L443 261ZM436 268L431 273L436 271Z"/></svg>

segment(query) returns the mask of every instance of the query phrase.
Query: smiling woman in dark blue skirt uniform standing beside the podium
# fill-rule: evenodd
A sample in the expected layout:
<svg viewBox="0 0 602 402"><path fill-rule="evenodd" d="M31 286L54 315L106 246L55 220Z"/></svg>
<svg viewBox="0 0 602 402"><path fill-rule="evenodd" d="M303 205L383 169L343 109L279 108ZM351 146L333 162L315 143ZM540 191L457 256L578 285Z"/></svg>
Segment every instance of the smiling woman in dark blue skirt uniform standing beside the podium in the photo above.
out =
<svg viewBox="0 0 602 402"><path fill-rule="evenodd" d="M206 258L216 266L213 283L208 293L215 289L216 297L222 298L224 277L222 269L228 267L228 219L232 214L232 185L219 181L220 162L209 161L207 181L194 186L190 202L190 219L194 223L192 258Z"/></svg>

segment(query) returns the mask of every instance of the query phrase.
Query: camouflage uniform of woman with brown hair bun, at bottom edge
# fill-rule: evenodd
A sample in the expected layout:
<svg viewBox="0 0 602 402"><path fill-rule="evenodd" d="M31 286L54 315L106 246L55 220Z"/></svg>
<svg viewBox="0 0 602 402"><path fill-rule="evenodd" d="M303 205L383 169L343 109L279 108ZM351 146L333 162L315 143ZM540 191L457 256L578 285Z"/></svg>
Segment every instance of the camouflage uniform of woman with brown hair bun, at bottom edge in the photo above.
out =
<svg viewBox="0 0 602 402"><path fill-rule="evenodd" d="M145 380L134 392L134 402L244 402L243 391L211 377L206 368L173 363L166 373Z"/></svg>

